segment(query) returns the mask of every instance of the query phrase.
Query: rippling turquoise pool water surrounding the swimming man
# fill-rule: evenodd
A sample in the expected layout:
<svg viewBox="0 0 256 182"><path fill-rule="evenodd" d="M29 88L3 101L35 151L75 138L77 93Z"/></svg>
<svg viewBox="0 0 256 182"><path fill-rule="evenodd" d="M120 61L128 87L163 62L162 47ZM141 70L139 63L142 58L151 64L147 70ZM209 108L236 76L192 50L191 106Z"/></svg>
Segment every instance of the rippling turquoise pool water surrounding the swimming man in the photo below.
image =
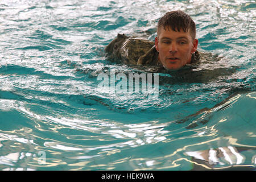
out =
<svg viewBox="0 0 256 182"><path fill-rule="evenodd" d="M104 47L154 40L170 10L223 58L160 73L158 98L98 90L100 73L143 73ZM246 0L1 1L0 169L255 170L255 17Z"/></svg>

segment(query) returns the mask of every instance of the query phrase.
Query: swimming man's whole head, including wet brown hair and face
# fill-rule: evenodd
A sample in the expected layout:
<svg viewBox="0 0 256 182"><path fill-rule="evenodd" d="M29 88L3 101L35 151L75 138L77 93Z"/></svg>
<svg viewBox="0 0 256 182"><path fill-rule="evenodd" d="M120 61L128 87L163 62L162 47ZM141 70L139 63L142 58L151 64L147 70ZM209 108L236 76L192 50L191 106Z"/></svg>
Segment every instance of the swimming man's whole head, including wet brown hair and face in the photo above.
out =
<svg viewBox="0 0 256 182"><path fill-rule="evenodd" d="M158 22L155 38L159 61L167 69L179 69L191 63L197 49L196 25L183 11L171 11Z"/></svg>

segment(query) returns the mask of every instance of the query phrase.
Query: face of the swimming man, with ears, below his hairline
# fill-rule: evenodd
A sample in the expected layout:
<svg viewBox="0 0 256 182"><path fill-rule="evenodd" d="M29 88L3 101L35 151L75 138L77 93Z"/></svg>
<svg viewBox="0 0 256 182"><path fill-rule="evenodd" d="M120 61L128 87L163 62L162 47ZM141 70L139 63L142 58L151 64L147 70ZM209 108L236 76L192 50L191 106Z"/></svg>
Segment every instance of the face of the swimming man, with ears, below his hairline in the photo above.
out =
<svg viewBox="0 0 256 182"><path fill-rule="evenodd" d="M171 28L164 30L155 38L155 48L159 51L159 61L167 69L180 69L191 63L192 53L197 49L198 40L192 40L190 31L173 31Z"/></svg>

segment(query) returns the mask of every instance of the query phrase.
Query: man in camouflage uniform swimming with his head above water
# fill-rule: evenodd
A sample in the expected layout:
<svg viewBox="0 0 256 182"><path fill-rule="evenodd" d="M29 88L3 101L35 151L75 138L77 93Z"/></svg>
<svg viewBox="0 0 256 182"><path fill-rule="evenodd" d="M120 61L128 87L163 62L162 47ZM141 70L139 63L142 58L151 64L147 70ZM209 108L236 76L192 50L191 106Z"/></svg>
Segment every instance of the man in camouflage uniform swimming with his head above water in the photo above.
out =
<svg viewBox="0 0 256 182"><path fill-rule="evenodd" d="M155 43L118 34L105 48L112 60L125 64L158 65L180 69L200 60L197 51L196 25L183 11L171 11L160 18Z"/></svg>

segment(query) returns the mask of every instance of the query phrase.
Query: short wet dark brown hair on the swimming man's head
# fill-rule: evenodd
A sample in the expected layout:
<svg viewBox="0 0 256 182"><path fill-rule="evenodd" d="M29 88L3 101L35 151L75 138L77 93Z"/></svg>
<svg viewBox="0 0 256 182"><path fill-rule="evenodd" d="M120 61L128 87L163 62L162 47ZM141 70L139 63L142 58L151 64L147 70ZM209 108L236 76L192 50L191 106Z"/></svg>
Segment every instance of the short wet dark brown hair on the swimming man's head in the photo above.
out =
<svg viewBox="0 0 256 182"><path fill-rule="evenodd" d="M182 29L184 32L188 32L190 30L192 40L196 38L196 24L192 18L183 11L170 11L160 18L158 22L158 36L161 27L163 27L164 30L171 28L173 31L180 31Z"/></svg>

